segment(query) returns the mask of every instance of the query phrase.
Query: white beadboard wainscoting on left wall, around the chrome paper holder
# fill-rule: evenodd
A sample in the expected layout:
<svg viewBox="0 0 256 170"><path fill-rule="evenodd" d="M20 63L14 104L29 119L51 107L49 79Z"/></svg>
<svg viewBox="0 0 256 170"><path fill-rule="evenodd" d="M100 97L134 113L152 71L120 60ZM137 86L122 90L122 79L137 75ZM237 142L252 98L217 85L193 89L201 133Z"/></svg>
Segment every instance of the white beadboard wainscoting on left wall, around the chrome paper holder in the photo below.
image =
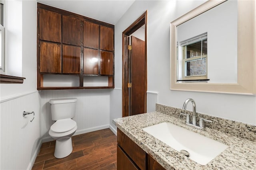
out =
<svg viewBox="0 0 256 170"><path fill-rule="evenodd" d="M31 169L40 141L40 96L38 92L1 101L0 169ZM34 111L23 117L23 111Z"/></svg>

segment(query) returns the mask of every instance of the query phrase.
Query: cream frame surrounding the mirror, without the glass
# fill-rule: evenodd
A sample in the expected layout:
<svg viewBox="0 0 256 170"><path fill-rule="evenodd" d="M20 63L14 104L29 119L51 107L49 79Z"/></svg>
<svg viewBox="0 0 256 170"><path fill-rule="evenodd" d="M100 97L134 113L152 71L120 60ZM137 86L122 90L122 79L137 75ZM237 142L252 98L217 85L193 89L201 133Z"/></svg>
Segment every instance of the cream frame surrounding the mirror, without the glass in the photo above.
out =
<svg viewBox="0 0 256 170"><path fill-rule="evenodd" d="M256 94L256 2L238 0L237 83L177 82L177 26L226 0L208 0L170 23L170 90ZM244 59L246 57L246 59Z"/></svg>

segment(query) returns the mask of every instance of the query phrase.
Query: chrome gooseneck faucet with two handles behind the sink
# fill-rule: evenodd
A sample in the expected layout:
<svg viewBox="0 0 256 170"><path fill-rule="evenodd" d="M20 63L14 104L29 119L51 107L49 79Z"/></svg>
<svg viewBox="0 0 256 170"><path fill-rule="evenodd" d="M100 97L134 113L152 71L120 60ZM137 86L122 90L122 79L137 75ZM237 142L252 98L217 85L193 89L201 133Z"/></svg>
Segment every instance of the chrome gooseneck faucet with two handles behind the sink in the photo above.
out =
<svg viewBox="0 0 256 170"><path fill-rule="evenodd" d="M184 102L182 109L186 110L187 105L188 105L189 102L192 102L192 105L193 105L192 124L190 123L190 115L189 114L180 113L181 115L186 115L186 122L185 122L186 125L190 125L190 126L193 126L193 127L199 128L199 129L203 129L204 128L204 121L212 122L210 120L206 120L206 119L200 117L199 125L197 125L196 124L196 117L197 117L196 102L193 99L189 98Z"/></svg>

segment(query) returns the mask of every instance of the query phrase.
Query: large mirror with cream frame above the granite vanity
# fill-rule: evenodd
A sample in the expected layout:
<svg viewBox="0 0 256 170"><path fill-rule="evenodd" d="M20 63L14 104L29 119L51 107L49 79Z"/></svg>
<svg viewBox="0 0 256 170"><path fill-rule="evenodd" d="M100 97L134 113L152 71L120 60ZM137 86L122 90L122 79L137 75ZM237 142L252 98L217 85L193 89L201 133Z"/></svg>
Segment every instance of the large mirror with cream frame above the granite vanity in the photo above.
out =
<svg viewBox="0 0 256 170"><path fill-rule="evenodd" d="M207 1L170 23L170 89L256 94L254 1Z"/></svg>

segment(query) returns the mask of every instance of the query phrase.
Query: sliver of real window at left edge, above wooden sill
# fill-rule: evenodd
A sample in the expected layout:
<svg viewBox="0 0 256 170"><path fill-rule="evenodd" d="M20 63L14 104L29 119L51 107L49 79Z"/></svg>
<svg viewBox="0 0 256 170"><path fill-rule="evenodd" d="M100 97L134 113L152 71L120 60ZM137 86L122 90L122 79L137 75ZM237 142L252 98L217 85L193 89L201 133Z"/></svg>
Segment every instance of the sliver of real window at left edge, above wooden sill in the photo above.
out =
<svg viewBox="0 0 256 170"><path fill-rule="evenodd" d="M4 1L0 0L0 70L1 74L4 73L4 18L5 18L5 9Z"/></svg>

